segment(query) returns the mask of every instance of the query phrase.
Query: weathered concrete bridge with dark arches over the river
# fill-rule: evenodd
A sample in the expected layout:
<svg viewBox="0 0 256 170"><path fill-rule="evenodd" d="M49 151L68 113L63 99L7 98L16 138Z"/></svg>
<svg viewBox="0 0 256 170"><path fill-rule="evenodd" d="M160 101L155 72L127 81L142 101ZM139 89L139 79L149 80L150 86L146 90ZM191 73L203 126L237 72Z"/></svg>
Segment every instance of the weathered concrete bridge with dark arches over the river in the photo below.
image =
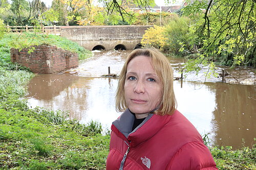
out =
<svg viewBox="0 0 256 170"><path fill-rule="evenodd" d="M88 50L132 50L152 26L62 26L60 36Z"/></svg>

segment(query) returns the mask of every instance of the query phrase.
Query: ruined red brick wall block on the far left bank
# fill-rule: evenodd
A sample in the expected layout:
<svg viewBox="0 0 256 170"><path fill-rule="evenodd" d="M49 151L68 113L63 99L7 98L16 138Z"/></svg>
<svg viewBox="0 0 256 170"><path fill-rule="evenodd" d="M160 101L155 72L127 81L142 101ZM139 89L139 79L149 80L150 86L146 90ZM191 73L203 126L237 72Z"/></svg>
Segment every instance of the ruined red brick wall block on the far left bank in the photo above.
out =
<svg viewBox="0 0 256 170"><path fill-rule="evenodd" d="M28 48L22 51L11 48L11 61L31 69L35 73L54 74L78 67L77 53L62 50L56 46L35 45L35 50L28 53Z"/></svg>

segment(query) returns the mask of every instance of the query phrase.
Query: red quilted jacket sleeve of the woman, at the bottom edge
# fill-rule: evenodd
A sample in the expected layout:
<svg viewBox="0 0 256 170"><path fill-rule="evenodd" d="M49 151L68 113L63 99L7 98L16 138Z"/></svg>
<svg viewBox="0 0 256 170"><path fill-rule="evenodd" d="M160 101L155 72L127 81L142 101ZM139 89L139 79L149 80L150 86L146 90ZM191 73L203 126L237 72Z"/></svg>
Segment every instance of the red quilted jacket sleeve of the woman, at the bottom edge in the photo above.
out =
<svg viewBox="0 0 256 170"><path fill-rule="evenodd" d="M184 144L170 160L166 170L216 170L208 148L201 142Z"/></svg>

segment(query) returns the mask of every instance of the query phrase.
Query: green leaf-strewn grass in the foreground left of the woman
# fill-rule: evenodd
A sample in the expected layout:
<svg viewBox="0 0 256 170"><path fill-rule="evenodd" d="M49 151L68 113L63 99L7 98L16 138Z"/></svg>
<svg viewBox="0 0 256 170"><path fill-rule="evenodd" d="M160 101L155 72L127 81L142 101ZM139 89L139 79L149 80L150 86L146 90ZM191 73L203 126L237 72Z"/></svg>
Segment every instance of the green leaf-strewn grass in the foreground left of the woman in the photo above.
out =
<svg viewBox="0 0 256 170"><path fill-rule="evenodd" d="M11 100L11 99L10 99ZM2 169L104 169L110 136L87 133L87 125L62 119L66 113L42 108L2 107ZM22 102L22 101L20 101ZM62 113L62 115L61 115ZM48 115L48 116L45 116ZM55 117L55 118L54 118Z"/></svg>

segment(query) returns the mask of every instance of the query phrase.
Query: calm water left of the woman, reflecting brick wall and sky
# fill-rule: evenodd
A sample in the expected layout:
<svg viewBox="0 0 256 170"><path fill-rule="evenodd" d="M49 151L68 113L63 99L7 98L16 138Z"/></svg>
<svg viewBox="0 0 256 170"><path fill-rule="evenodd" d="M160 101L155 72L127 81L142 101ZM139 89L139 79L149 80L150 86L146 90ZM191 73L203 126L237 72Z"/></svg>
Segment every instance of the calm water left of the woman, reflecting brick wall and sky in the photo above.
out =
<svg viewBox="0 0 256 170"><path fill-rule="evenodd" d="M29 105L69 111L81 123L91 119L110 127L120 113L115 111L118 79L84 78L70 74L36 75L28 84Z"/></svg>

